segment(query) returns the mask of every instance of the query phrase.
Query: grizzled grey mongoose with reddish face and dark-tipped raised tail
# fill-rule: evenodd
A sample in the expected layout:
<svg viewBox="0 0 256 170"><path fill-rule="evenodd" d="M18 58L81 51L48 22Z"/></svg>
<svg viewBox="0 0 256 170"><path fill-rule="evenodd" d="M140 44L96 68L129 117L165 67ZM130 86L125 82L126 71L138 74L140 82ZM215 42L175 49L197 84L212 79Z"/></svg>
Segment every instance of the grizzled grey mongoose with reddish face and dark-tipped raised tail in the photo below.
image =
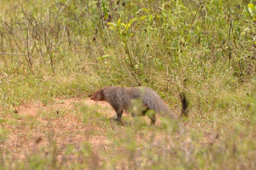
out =
<svg viewBox="0 0 256 170"><path fill-rule="evenodd" d="M188 101L183 93L179 95L182 103L180 116L186 116ZM155 113L164 113L175 118L175 114L170 111L169 107L160 99L158 94L147 87L107 86L100 88L88 97L94 101L107 101L115 109L117 115L116 121L122 120L123 110L130 109L132 99L142 100L142 107L144 107L144 109L141 115L145 115L147 110L154 110ZM135 116L134 113L131 113L131 115L133 117ZM155 124L156 116L151 115L149 118L151 119L151 124Z"/></svg>

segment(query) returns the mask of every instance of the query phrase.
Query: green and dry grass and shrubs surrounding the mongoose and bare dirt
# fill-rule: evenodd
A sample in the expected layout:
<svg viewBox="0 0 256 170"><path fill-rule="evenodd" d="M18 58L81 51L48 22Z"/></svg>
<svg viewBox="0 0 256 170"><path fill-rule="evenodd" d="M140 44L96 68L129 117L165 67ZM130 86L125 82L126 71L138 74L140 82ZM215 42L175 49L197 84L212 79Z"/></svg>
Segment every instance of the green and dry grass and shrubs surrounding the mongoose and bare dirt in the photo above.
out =
<svg viewBox="0 0 256 170"><path fill-rule="evenodd" d="M8 0L0 7L2 168L255 168L251 1ZM139 119L121 126L78 104L69 112L82 116L84 127L104 129L90 135L108 138L106 150L86 141L60 148L51 140L49 154L31 149L15 159L8 148L12 129L21 126L14 105L51 106L57 97L139 84L157 91L173 110L180 108L178 93L185 91L188 119L183 125L164 119L152 127ZM23 130L38 123L37 117L22 119ZM60 150L77 159L58 161Z"/></svg>

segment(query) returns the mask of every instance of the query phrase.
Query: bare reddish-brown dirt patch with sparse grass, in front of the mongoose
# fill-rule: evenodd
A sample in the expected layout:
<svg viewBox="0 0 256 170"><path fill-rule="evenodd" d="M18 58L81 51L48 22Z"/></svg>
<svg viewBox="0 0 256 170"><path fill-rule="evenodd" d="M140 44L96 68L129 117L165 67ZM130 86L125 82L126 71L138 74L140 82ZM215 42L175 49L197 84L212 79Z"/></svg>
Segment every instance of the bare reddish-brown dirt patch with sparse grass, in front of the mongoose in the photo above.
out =
<svg viewBox="0 0 256 170"><path fill-rule="evenodd" d="M102 108L107 108L107 112L104 111L102 114L112 119L116 116L116 113L107 102L94 102L88 98L81 99L78 97L69 99L56 98L55 100L56 102L51 106L34 103L14 106L12 109L16 110L17 113L12 113L5 117L6 120L10 121L4 123L9 134L7 141L1 144L2 149L8 148L8 152L12 152L13 154L13 159L25 159L26 154L35 152L41 147L45 147L44 150L47 153L47 147L49 147L49 144L53 140L56 141L56 144L60 148L65 148L67 144L73 144L75 147L79 147L81 143L89 142L96 150L108 150L112 143L106 136L86 135L86 132L90 134L91 128L97 127L85 127L81 121L77 120L77 117L69 114L70 110L76 109L74 106L78 103L86 104L89 107L98 104ZM52 110L56 111L57 114L59 111L65 114L63 114L62 119L42 116L42 113ZM17 115L17 117L15 118L13 115ZM131 117L127 113L124 113L123 116ZM145 117L144 119L148 118ZM11 123L12 121L17 122ZM160 125L160 121L157 121L156 125ZM99 130L101 129L99 128ZM59 159L61 159L62 154L59 153Z"/></svg>

